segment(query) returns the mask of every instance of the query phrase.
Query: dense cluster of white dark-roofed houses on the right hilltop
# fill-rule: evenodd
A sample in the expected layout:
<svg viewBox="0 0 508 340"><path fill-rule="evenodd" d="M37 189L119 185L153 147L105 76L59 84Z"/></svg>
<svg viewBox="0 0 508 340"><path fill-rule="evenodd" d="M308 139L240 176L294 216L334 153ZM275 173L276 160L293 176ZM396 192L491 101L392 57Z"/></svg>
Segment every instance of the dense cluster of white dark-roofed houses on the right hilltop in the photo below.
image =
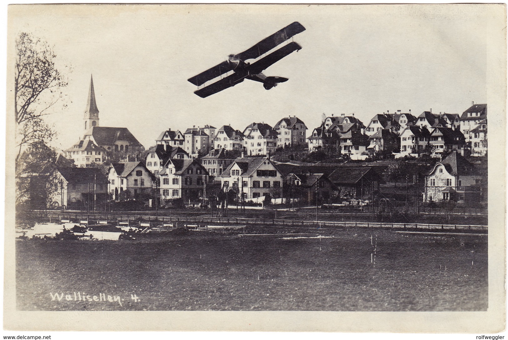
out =
<svg viewBox="0 0 508 340"><path fill-rule="evenodd" d="M402 155L430 149L433 156L467 146L471 155L487 152L487 105L474 104L458 114L433 114L425 111L416 117L410 113L376 114L365 126L354 116L327 117L308 140L309 152L330 149L363 159L378 151ZM363 156L363 158L362 158Z"/></svg>

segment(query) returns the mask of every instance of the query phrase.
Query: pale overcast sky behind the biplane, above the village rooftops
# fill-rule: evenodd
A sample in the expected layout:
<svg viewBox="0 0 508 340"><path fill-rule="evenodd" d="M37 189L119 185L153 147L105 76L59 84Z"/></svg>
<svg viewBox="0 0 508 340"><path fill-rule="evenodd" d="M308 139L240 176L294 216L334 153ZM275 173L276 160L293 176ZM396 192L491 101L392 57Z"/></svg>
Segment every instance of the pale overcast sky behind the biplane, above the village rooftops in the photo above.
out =
<svg viewBox="0 0 508 340"><path fill-rule="evenodd" d="M485 7L475 5L48 6L10 9L10 44L27 31L54 45L69 77L67 108L48 121L68 148L83 133L93 74L101 126L127 127L148 148L171 128L265 122L296 115L309 128L325 113L462 113L486 103ZM200 98L187 79L288 24L302 49L264 74ZM64 65L72 66L68 73Z"/></svg>

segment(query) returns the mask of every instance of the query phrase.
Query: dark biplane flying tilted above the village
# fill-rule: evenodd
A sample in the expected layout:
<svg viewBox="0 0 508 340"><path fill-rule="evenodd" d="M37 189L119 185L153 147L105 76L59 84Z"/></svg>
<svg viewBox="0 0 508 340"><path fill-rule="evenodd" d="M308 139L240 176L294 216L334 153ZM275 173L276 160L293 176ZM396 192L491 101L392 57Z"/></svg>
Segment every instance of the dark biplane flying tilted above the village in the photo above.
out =
<svg viewBox="0 0 508 340"><path fill-rule="evenodd" d="M302 47L292 41L268 55L263 56L263 54L288 41L293 38L293 36L303 32L304 30L305 27L295 21L242 53L230 54L226 61L223 61L220 64L211 67L211 69L188 79L190 83L198 86L198 90L194 91L194 93L202 98L205 98L209 95L227 89L228 87L235 86L236 84L243 82L245 79L261 82L267 90L277 86L278 83L287 81L288 78L267 77L262 72L270 65L273 65L275 62L292 52L300 50ZM254 61L252 64L245 62L245 60L257 59L259 57L261 58ZM223 76L230 71L234 71L233 74ZM199 86L203 85L207 81L218 77L220 77L220 79L216 82L213 82L201 89L199 88Z"/></svg>

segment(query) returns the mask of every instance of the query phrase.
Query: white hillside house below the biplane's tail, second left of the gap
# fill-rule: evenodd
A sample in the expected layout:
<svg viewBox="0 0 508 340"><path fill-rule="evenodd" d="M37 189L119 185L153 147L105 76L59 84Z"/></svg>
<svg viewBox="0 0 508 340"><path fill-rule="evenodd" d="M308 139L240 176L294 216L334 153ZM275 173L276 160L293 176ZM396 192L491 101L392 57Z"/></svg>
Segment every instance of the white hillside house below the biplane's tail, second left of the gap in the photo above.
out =
<svg viewBox="0 0 508 340"><path fill-rule="evenodd" d="M244 147L249 156L273 154L277 148L278 132L268 124L249 124L243 134Z"/></svg>

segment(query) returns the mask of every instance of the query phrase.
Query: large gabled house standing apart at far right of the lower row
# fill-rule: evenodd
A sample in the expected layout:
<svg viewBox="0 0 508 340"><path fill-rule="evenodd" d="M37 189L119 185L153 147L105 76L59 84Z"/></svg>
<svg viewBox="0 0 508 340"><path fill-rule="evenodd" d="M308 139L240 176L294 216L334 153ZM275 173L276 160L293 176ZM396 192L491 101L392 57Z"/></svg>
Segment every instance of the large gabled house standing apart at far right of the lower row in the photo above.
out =
<svg viewBox="0 0 508 340"><path fill-rule="evenodd" d="M478 203L482 176L471 163L453 151L437 163L425 178L425 202L456 201Z"/></svg>

